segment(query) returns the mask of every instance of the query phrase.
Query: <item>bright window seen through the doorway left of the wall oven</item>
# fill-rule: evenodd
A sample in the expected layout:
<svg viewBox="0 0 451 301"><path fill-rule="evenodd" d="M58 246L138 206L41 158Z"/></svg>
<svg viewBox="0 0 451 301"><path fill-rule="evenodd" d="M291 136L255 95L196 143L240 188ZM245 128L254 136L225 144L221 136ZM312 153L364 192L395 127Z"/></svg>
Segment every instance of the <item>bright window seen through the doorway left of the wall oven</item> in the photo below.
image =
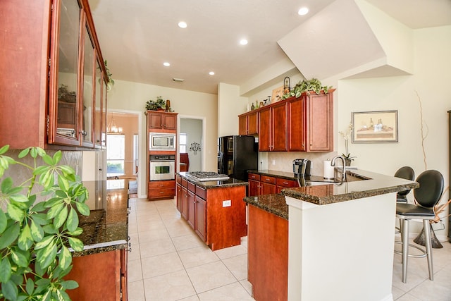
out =
<svg viewBox="0 0 451 301"><path fill-rule="evenodd" d="M106 148L106 176L123 176L125 161L125 135L106 135L108 147Z"/></svg>

